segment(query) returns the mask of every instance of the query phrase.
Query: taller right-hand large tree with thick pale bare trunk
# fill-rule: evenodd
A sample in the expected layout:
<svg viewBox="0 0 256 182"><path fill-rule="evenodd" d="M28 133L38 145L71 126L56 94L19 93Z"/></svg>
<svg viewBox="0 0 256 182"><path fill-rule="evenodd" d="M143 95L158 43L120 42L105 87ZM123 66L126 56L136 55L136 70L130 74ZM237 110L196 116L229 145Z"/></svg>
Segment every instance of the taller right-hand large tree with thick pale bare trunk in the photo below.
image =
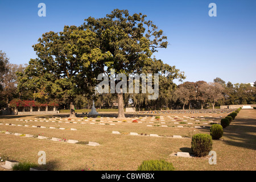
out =
<svg viewBox="0 0 256 182"><path fill-rule="evenodd" d="M151 20L145 18L146 15L141 13L130 15L127 10L115 9L104 18L85 19L83 30L94 32L100 40L101 51L111 53L98 67L109 76L109 80L111 69L126 76L130 73L158 73L147 68L156 62L151 56L157 48L167 47L167 37ZM160 62L159 67L162 67ZM172 75L172 78L176 77L179 77L178 72ZM118 118L125 118L123 92L117 93Z"/></svg>

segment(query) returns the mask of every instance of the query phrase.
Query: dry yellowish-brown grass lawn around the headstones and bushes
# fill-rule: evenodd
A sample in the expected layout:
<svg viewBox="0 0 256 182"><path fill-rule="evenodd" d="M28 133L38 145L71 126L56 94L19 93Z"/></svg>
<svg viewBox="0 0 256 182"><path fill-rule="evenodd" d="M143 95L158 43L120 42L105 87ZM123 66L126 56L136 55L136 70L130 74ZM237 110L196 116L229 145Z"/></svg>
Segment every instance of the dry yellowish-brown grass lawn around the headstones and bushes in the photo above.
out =
<svg viewBox="0 0 256 182"><path fill-rule="evenodd" d="M9 156L11 160L19 162L38 162L38 152L46 152L47 169L50 170L136 170L143 160L165 159L174 164L177 170L255 170L255 124L256 110L241 110L235 121L229 127L224 129L224 136L221 140L213 140L213 150L217 152L217 165L210 165L208 158L177 158L170 156L173 152L184 151L191 152L191 138L175 139L169 138L172 135L181 135L191 137L196 133L209 134L210 125L203 125L200 122L198 126L205 126L201 129L195 129L195 121L188 119L193 125L178 124L184 128L177 128L174 122L167 115L201 116L202 114L160 114L163 115L163 121L150 121L145 119L143 123L129 123L134 118L126 118L127 122L113 122L115 125L90 125L91 121L76 121L81 123L53 123L53 122L35 122L35 121L16 121L15 119L33 119L33 118L51 118L53 115L30 115L30 116L6 116L1 117L0 131L10 131L13 133L43 135L46 137L56 137L64 139L74 139L79 141L92 141L100 143L100 146L92 147L85 144L71 144L67 142L53 142L51 140L40 140L36 138L25 138L14 135L6 135L0 132L0 156ZM113 117L117 114L103 114L104 117ZM157 114L148 114L152 117ZM207 118L205 115L212 115ZM228 114L203 114L205 120L220 121L220 118L214 117ZM54 115L60 117L64 115ZM67 116L67 115L65 115ZM134 117L133 115L127 115ZM142 118L143 114L136 117ZM98 118L94 118L97 120ZM187 118L184 118L187 119ZM196 118L195 118L196 119ZM140 119L137 119L141 121ZM113 119L112 121L118 121ZM120 121L123 121L121 119ZM148 123L158 122L158 123ZM205 122L205 121L204 121ZM7 126L5 123L15 125L30 125L30 127ZM67 130L42 129L34 126L46 127L64 127ZM168 125L170 127L147 127L146 125ZM191 127L189 127L191 126ZM68 130L70 128L77 131ZM112 134L112 131L119 131L126 134ZM166 137L148 137L131 136L127 133L135 132L138 134L158 134ZM2 168L0 168L2 170Z"/></svg>

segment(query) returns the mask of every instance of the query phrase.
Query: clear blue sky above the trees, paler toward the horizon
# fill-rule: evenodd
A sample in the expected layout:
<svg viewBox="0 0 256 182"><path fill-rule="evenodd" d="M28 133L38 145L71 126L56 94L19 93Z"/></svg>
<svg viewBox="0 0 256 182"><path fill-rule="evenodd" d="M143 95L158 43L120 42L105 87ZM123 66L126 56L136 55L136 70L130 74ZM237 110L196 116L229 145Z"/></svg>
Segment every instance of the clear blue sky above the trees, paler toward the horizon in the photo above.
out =
<svg viewBox="0 0 256 182"><path fill-rule="evenodd" d="M38 16L40 2L46 4L46 17ZM217 6L216 17L208 15L212 2ZM101 18L114 9L146 14L163 30L170 45L155 56L184 71L184 81L212 82L220 77L235 84L256 80L255 0L1 0L0 50L10 63L28 63L36 57L32 45L44 32L80 26L85 18Z"/></svg>

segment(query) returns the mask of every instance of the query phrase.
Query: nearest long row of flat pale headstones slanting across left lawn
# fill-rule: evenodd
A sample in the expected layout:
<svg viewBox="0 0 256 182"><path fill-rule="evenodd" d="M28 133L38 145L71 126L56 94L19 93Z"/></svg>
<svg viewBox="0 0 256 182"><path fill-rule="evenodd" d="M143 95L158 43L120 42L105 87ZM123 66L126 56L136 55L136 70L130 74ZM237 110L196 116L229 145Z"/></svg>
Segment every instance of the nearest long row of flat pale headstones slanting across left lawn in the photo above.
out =
<svg viewBox="0 0 256 182"><path fill-rule="evenodd" d="M30 134L20 134L20 133L11 133L9 131L6 131L5 134L9 134L9 135L15 135L15 136L24 136L24 137L27 137L27 138L35 138L34 135L30 135ZM38 137L36 137L37 139L49 139L48 137L44 137L44 136L40 136L38 135ZM55 138L55 137L52 137L50 140L52 141L56 141L56 142L65 142L66 140L61 140L60 138ZM68 143L78 143L79 140L71 140L71 139L68 139L67 140ZM96 142L89 142L88 144L86 144L88 146L99 146L100 144L99 143L96 143Z"/></svg>

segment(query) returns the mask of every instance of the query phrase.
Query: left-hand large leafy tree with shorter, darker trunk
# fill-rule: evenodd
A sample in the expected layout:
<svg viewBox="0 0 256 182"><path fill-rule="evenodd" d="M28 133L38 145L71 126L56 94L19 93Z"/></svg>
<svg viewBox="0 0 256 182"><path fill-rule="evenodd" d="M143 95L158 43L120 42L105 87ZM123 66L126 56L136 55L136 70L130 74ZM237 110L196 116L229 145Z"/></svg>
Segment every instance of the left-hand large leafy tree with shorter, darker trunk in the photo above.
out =
<svg viewBox="0 0 256 182"><path fill-rule="evenodd" d="M25 74L20 73L20 88L27 85L49 98L65 98L70 117L75 117L75 97L94 93L97 63L110 54L101 51L95 32L76 26L47 32L38 42L33 46L38 59L30 61Z"/></svg>

